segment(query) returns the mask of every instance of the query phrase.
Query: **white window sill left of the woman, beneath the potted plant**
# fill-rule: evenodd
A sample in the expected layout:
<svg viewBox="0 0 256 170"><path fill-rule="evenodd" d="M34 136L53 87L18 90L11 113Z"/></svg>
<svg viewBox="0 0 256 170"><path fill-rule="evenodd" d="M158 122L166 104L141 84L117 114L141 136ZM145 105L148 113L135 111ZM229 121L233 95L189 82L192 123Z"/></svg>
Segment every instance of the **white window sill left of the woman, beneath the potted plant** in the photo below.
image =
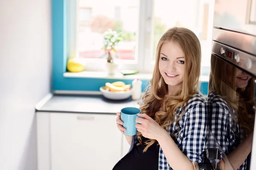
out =
<svg viewBox="0 0 256 170"><path fill-rule="evenodd" d="M152 78L152 74L138 73L134 75L124 76L121 73L115 75L108 75L106 72L100 71L82 71L79 73L66 72L63 74L63 77L69 78L95 78L95 79L144 79L149 80Z"/></svg>

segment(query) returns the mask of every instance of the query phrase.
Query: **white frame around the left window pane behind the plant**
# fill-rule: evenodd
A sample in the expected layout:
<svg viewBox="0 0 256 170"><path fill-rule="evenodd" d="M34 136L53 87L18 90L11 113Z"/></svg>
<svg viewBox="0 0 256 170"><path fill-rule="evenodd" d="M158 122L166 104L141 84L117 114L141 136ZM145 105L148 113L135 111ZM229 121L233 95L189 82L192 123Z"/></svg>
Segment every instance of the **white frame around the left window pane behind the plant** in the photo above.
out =
<svg viewBox="0 0 256 170"><path fill-rule="evenodd" d="M78 47L78 3L79 0L67 0L67 54L68 58L79 57ZM139 23L136 34L137 48L135 60L116 59L120 70L134 69L140 73L152 73L154 62L151 61L153 43L153 3L154 0L140 0ZM74 20L76 18L76 20ZM146 31L145 31L146 30ZM106 59L83 59L87 71L105 71Z"/></svg>

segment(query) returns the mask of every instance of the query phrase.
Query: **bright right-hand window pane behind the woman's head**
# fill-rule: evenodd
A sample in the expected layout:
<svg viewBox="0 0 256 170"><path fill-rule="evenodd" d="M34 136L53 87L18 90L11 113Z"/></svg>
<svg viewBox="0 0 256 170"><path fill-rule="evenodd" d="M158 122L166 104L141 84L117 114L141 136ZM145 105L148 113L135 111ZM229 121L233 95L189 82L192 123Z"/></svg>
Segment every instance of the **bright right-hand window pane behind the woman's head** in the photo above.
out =
<svg viewBox="0 0 256 170"><path fill-rule="evenodd" d="M201 75L209 75L214 0L155 0L153 60L157 43L168 28L192 30L201 42Z"/></svg>

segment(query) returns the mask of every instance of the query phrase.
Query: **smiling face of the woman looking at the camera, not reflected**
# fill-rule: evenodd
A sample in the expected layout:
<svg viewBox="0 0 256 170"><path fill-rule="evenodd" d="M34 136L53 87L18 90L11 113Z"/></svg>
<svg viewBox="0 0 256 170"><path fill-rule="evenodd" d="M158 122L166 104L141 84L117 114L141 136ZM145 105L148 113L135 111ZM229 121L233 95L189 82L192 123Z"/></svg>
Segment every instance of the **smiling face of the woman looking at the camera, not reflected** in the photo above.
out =
<svg viewBox="0 0 256 170"><path fill-rule="evenodd" d="M185 55L174 42L165 42L160 50L159 71L168 88L177 89L183 83Z"/></svg>

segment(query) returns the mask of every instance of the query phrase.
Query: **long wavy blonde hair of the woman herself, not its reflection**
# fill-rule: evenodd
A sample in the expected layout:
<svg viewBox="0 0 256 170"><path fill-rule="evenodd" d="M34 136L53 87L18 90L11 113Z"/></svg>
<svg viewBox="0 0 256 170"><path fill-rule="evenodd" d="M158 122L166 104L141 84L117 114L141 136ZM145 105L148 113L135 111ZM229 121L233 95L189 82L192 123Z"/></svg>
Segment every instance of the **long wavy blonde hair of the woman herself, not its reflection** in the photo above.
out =
<svg viewBox="0 0 256 170"><path fill-rule="evenodd" d="M168 95L168 85L164 82L159 71L161 47L165 42L170 41L179 45L185 54L183 84L175 96ZM191 96L199 92L200 66L201 45L198 37L187 28L174 27L166 31L157 45L153 78L143 96L143 102L140 106L141 112L153 118L164 129L168 129L175 120L176 109L186 104ZM142 134L138 132L137 136L139 138L138 145L142 144ZM146 147L143 152L154 142L156 142L154 139L145 141Z"/></svg>

